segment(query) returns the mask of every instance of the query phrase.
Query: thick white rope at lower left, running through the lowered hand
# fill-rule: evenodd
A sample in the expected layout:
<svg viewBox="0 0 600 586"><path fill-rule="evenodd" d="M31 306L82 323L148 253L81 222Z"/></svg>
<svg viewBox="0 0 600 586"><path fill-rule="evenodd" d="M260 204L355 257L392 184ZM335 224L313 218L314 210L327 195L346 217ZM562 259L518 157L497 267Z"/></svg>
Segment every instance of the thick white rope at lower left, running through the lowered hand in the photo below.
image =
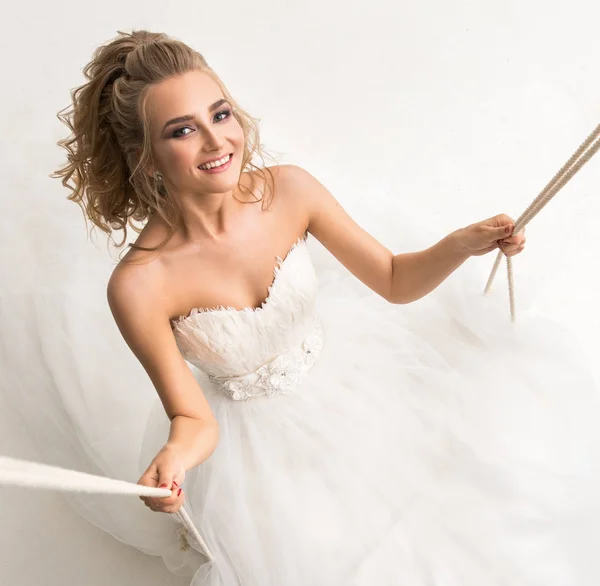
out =
<svg viewBox="0 0 600 586"><path fill-rule="evenodd" d="M172 494L172 491L168 488L142 486L125 480L96 476L87 472L68 470L58 466L9 458L8 456L0 456L0 484L95 494L129 494L151 497L167 497ZM201 553L212 560L213 556L210 550L185 508L180 507L175 514L183 524L185 532L195 539L197 542L195 545L200 548ZM184 540L186 540L185 532L182 535Z"/></svg>

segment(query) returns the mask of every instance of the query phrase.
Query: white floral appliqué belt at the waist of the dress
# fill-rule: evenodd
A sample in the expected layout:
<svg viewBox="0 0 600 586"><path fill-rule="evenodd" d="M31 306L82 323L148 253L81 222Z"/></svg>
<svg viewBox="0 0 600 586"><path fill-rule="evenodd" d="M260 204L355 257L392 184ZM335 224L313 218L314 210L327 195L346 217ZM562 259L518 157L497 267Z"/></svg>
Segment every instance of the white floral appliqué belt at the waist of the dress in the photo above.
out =
<svg viewBox="0 0 600 586"><path fill-rule="evenodd" d="M297 346L263 364L254 372L242 376L208 378L226 397L234 401L253 399L261 395L289 395L311 366L323 347L323 326L315 317L309 335Z"/></svg>

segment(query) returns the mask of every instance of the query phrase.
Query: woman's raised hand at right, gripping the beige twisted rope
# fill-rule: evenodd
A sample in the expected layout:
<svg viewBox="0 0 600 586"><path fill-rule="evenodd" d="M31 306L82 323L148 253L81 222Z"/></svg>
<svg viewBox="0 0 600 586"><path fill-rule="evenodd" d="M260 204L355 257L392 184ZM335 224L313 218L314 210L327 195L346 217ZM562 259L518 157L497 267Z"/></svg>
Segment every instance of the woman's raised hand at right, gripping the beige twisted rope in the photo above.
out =
<svg viewBox="0 0 600 586"><path fill-rule="evenodd" d="M506 256L515 256L525 248L525 228L511 236L515 221L506 214L498 214L457 230L460 245L471 256L482 256L500 248Z"/></svg>

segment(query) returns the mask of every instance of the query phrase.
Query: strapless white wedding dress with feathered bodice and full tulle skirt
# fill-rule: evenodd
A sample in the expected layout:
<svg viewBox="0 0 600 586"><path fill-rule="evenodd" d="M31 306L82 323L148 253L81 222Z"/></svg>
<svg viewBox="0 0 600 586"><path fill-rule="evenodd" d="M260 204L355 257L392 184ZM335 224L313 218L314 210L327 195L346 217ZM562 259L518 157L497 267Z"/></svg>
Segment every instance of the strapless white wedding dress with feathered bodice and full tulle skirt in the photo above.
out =
<svg viewBox="0 0 600 586"><path fill-rule="evenodd" d="M319 277L299 239L260 308L172 323L220 426L184 482L213 561L138 499L69 502L193 586L598 584L599 393L568 335L451 286L392 305L343 268ZM116 338L86 347L75 317L54 324L72 360L41 338L64 412L36 412L38 445L136 481L169 421L139 366L107 368Z"/></svg>

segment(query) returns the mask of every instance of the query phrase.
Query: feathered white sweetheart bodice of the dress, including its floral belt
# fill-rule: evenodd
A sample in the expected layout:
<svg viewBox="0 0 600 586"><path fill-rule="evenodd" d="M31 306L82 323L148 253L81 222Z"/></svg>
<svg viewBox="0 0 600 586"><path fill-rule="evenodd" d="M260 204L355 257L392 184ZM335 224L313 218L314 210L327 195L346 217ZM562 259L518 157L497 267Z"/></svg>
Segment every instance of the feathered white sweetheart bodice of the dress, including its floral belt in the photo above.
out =
<svg viewBox="0 0 600 586"><path fill-rule="evenodd" d="M234 400L292 392L322 347L305 238L277 257L273 273L258 308L195 308L172 322L182 356Z"/></svg>

